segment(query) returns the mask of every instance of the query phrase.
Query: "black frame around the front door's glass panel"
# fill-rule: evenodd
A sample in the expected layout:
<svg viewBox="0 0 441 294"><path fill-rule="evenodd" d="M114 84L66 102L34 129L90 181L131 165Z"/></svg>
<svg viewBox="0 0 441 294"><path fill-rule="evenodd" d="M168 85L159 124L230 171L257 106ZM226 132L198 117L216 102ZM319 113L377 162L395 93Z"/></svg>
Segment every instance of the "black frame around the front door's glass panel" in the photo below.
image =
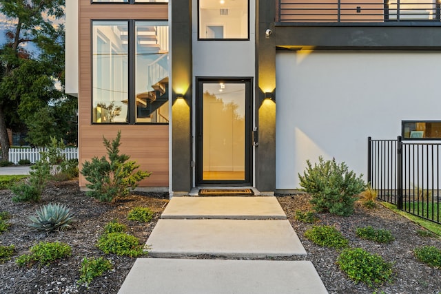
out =
<svg viewBox="0 0 441 294"><path fill-rule="evenodd" d="M203 180L203 84L245 83L245 180ZM251 186L252 185L252 101L253 78L251 77L196 77L196 187L203 186Z"/></svg>

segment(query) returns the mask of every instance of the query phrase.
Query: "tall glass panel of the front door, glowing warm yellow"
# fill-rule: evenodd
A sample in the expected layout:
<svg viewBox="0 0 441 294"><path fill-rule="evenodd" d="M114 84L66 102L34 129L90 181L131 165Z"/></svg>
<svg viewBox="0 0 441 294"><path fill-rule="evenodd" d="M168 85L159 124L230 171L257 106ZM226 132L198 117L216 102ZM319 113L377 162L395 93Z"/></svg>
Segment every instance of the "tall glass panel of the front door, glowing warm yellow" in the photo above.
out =
<svg viewBox="0 0 441 294"><path fill-rule="evenodd" d="M203 84L203 180L245 180L245 84Z"/></svg>

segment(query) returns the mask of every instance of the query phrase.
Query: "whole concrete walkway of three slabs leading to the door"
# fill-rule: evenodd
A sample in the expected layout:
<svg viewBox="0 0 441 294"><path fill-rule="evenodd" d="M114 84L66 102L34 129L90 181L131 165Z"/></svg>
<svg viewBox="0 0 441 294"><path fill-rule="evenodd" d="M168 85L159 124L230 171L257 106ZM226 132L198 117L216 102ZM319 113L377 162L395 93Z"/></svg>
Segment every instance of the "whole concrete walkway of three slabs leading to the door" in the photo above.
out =
<svg viewBox="0 0 441 294"><path fill-rule="evenodd" d="M327 293L309 261L246 260L307 254L275 197L172 198L147 245L119 294Z"/></svg>

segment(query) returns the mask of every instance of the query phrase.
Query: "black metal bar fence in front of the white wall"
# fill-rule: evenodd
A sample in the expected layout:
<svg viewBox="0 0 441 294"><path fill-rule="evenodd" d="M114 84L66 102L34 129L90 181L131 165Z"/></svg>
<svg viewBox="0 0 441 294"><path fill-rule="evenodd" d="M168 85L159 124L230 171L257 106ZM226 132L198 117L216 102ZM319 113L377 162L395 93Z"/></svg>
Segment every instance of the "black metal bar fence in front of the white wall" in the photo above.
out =
<svg viewBox="0 0 441 294"><path fill-rule="evenodd" d="M367 180L378 199L440 222L441 143L368 138Z"/></svg>

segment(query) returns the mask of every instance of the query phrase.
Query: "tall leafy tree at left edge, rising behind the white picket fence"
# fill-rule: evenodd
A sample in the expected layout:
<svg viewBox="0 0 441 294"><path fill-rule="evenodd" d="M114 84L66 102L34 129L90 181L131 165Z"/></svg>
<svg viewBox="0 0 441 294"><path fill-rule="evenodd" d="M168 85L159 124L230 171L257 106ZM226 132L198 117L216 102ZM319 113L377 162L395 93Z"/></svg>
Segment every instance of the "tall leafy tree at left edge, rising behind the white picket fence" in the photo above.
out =
<svg viewBox="0 0 441 294"><path fill-rule="evenodd" d="M65 100L65 0L2 0L0 12L14 23L0 48L0 144L3 158L10 147L6 128L30 123L35 113ZM26 48L34 46L31 52Z"/></svg>

